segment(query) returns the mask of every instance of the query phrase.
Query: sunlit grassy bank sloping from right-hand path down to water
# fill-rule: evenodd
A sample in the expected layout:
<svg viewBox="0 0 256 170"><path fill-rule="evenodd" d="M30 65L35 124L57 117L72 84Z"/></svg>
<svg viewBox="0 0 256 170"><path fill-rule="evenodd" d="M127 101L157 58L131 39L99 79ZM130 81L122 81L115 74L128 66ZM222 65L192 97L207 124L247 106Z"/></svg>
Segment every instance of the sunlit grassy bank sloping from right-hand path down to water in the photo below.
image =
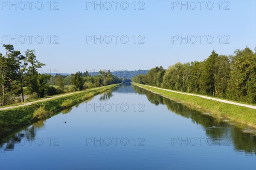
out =
<svg viewBox="0 0 256 170"><path fill-rule="evenodd" d="M204 99L198 96L177 94L171 91L152 88L137 83L133 84L148 91L166 96L175 101L183 102L191 108L200 110L202 113L209 113L209 115L216 118L228 119L230 122L234 122L236 124L239 123L241 125L256 128L256 109L218 102L211 99Z"/></svg>

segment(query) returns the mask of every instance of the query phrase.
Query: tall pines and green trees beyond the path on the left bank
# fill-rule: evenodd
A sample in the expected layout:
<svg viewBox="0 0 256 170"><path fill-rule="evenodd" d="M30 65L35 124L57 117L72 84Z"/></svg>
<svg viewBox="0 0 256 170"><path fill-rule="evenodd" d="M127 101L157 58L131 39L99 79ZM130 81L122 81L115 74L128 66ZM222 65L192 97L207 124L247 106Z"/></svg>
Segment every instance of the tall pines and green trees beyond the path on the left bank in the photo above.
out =
<svg viewBox="0 0 256 170"><path fill-rule="evenodd" d="M13 45L3 47L6 52L0 53L0 106L122 82L110 71L100 71L97 76L90 76L88 72L66 77L57 74L50 85L52 76L38 72L46 64L38 61L35 50L28 49L22 55Z"/></svg>

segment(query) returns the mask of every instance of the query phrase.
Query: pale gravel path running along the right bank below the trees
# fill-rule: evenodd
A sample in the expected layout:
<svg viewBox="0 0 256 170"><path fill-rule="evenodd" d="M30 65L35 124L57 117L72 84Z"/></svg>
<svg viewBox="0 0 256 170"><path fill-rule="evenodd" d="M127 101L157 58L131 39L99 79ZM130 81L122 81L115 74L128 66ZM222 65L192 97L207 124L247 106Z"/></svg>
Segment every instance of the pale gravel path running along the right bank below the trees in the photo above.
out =
<svg viewBox="0 0 256 170"><path fill-rule="evenodd" d="M134 84L134 85L136 85L136 84ZM150 86L150 85L145 85L145 86L148 86L148 87L151 87L151 88L157 88L157 87ZM205 98L205 99L215 100L215 101L218 101L218 102L229 103L229 104L232 104L232 105L238 105L238 106L244 106L244 107L247 107L247 108L256 109L256 106L253 106L253 105L246 105L246 104L242 104L242 103L231 102L231 101L228 101L228 100L216 99L216 98L213 98L213 97L207 97L207 96L202 96L202 95L197 95L197 94L189 94L189 93L183 93L183 92L179 92L179 91L172 91L172 90L168 90L168 89L165 89L165 88L157 88L157 89L164 90L164 91L171 91L173 93L186 94L186 95L189 95L189 96L198 96L198 97L202 97L202 98Z"/></svg>

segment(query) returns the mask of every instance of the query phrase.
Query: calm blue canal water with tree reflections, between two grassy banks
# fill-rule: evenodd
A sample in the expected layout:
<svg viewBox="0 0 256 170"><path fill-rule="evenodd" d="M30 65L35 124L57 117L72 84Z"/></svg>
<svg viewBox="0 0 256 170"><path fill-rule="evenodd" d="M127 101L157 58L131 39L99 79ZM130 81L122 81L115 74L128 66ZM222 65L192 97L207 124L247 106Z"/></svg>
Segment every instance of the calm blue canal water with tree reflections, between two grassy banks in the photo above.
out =
<svg viewBox="0 0 256 170"><path fill-rule="evenodd" d="M123 84L1 139L0 169L255 170L256 136Z"/></svg>

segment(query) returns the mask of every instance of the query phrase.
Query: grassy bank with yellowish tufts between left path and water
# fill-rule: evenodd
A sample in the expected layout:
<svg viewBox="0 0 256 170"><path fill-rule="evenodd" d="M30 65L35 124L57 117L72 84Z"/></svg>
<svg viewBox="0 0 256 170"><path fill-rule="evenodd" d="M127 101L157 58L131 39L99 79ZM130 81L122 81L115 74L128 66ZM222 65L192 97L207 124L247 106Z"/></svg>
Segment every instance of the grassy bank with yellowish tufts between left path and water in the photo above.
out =
<svg viewBox="0 0 256 170"><path fill-rule="evenodd" d="M67 96L60 96L47 101L36 102L32 105L18 106L0 111L0 136L5 136L14 130L47 119L59 111L83 102L91 97L116 87L119 84L79 91Z"/></svg>

